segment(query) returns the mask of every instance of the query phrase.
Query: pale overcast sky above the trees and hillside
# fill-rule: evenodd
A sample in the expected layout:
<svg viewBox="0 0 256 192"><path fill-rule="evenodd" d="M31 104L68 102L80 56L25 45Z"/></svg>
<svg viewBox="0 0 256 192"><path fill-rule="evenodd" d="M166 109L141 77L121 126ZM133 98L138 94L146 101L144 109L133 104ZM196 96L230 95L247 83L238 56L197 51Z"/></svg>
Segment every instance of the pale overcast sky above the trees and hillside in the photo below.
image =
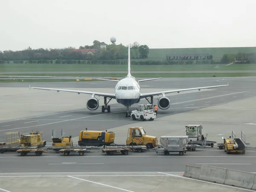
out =
<svg viewBox="0 0 256 192"><path fill-rule="evenodd" d="M256 0L0 0L0 50L255 47Z"/></svg>

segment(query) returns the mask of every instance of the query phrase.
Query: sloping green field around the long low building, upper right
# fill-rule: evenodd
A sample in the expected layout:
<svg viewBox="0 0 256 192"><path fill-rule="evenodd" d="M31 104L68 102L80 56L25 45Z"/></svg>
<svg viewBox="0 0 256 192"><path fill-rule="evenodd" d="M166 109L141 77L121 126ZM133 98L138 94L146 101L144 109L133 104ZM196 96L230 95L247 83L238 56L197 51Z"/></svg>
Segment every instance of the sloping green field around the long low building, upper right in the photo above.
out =
<svg viewBox="0 0 256 192"><path fill-rule="evenodd" d="M149 49L148 59L166 60L166 54L209 53L213 58L222 58L224 54L237 54L239 52L256 52L256 47L213 47L213 48L180 48L180 49Z"/></svg>

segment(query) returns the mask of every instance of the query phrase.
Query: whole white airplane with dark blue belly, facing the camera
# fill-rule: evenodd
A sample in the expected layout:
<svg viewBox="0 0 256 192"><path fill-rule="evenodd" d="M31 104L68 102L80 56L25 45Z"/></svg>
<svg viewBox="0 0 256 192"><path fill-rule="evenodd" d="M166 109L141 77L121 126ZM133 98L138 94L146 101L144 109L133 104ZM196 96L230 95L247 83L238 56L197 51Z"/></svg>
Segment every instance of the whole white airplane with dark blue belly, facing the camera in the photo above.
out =
<svg viewBox="0 0 256 192"><path fill-rule="evenodd" d="M189 90L201 90L201 89L209 89L209 88L217 88L217 87L224 87L228 86L225 85L217 85L217 86L209 86L209 87L195 87L195 88L187 88L187 89L177 89L177 90L167 90L167 91L158 91L152 93L140 93L140 82L143 81L151 81L156 79L163 79L163 78L154 78L154 79L143 79L137 80L134 76L131 76L131 62L130 62L130 46L128 46L128 75L120 80L111 80L111 79L100 79L103 81L116 81L115 93L98 93L98 92L90 92L90 91L82 91L82 90L65 90L65 89L52 89L52 88L41 88L41 87L30 87L33 89L41 89L41 90L55 90L59 91L66 91L66 92L73 92L73 93L85 93L91 94L91 98L87 100L87 108L89 110L96 110L99 108L99 100L95 96L103 96L104 97L104 105L102 105L102 112L105 110L110 112L110 105L108 103L111 99L116 99L116 102L124 105L127 109L125 116L131 116L131 111L129 108L131 105L139 103L141 99L146 99L150 104L153 104L153 97L162 95L158 99L158 108L165 110L170 107L170 100L165 94L168 93L180 93L181 91L189 91ZM107 102L107 98L109 101ZM149 101L148 99L151 99Z"/></svg>

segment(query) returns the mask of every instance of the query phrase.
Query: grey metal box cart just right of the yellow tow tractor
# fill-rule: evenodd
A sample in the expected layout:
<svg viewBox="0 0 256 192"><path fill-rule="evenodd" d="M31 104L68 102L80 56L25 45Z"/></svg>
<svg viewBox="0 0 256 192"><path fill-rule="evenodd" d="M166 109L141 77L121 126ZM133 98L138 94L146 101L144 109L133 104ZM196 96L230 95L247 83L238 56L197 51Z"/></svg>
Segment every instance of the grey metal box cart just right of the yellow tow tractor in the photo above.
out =
<svg viewBox="0 0 256 192"><path fill-rule="evenodd" d="M188 136L161 136L160 145L155 148L156 153L169 155L170 152L186 153L185 148L189 142Z"/></svg>

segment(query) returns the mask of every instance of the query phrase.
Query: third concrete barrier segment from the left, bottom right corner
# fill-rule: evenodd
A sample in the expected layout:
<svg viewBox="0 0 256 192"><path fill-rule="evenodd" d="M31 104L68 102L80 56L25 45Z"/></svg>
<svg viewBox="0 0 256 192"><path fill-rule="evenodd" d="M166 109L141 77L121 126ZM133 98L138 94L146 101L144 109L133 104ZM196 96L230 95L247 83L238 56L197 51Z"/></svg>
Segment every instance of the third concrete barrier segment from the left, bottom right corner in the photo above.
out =
<svg viewBox="0 0 256 192"><path fill-rule="evenodd" d="M227 175L224 184L252 189L254 184L254 174L227 169Z"/></svg>

